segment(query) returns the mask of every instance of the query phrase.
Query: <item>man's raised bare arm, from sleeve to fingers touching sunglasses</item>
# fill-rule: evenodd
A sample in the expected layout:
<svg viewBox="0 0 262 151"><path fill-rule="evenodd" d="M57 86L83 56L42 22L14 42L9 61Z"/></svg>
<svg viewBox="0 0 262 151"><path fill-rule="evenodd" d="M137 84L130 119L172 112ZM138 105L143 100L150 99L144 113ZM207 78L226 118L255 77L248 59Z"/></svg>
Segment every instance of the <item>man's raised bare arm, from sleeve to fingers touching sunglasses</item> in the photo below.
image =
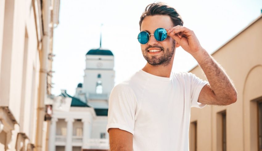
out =
<svg viewBox="0 0 262 151"><path fill-rule="evenodd" d="M194 32L183 26L168 29L167 34L190 53L199 63L210 85L201 90L198 102L210 105L229 105L237 99L236 90L222 67L200 45Z"/></svg>

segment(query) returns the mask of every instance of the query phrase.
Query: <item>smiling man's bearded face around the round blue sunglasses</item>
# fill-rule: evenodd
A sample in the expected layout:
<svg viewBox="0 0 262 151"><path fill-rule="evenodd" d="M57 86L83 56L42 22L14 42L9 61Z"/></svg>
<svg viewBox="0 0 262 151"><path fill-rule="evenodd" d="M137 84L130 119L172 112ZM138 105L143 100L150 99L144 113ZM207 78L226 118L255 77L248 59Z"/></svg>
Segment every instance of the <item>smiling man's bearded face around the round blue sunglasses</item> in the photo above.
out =
<svg viewBox="0 0 262 151"><path fill-rule="evenodd" d="M173 23L168 15L154 15L146 16L141 23L141 31L147 31L149 34L154 34L157 28L172 28ZM141 44L142 54L145 60L153 66L164 65L167 66L175 52L175 41L171 37L166 40L158 42L154 35L150 35L149 42L145 45ZM149 50L161 50L158 52L149 52Z"/></svg>

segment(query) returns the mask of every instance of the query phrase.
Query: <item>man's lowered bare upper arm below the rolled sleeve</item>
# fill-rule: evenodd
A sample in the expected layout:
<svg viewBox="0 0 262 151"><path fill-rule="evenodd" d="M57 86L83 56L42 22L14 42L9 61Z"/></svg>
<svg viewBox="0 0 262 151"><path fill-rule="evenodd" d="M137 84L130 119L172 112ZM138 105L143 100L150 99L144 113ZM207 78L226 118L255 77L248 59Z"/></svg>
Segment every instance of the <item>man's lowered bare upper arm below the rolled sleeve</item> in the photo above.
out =
<svg viewBox="0 0 262 151"><path fill-rule="evenodd" d="M132 151L133 135L118 128L108 129L110 151Z"/></svg>

